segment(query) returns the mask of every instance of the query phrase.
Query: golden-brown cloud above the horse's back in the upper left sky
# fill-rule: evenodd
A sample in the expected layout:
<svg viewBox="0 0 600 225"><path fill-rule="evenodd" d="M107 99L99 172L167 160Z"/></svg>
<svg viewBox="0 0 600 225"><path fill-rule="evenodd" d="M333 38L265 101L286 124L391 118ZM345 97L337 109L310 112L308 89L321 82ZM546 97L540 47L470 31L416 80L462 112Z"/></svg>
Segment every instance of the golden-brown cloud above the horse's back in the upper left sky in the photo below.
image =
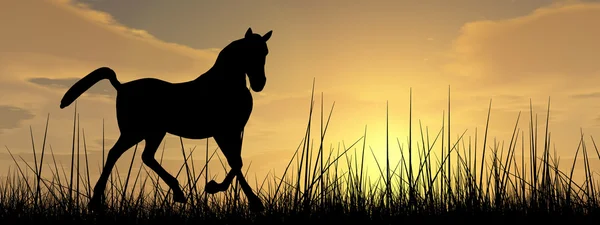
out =
<svg viewBox="0 0 600 225"><path fill-rule="evenodd" d="M214 49L161 41L74 1L10 0L3 4L0 64L20 70L10 73L18 78L36 73L35 77L40 73L49 78L80 77L108 65L120 77L162 75L182 80L182 74L208 69L217 54ZM19 68L25 65L33 68Z"/></svg>

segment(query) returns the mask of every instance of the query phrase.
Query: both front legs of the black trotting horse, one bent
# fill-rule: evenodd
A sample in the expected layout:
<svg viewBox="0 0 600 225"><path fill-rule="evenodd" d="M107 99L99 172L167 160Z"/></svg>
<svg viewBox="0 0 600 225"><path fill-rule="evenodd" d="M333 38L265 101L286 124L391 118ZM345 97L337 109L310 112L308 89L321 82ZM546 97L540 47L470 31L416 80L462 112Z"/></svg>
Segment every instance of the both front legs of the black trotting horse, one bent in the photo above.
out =
<svg viewBox="0 0 600 225"><path fill-rule="evenodd" d="M231 132L228 134L215 135L214 139L217 142L219 148L221 149L221 152L223 152L223 155L225 155L225 158L227 159L227 163L229 164L229 167L231 167L231 170L227 173L227 176L225 176L225 179L223 179L221 183L217 183L214 180L209 181L206 184L204 191L209 194L214 194L219 191L226 191L227 189L229 189L233 178L237 177L238 181L240 182L240 186L242 187L242 191L244 191L244 194L248 198L248 204L250 206L250 209L254 211L262 211L264 209L262 201L260 200L260 198L258 198L258 196L256 196L256 194L254 194L254 191L252 191L252 188L250 187L250 185L244 178L244 175L242 174L243 162L241 155L241 132Z"/></svg>

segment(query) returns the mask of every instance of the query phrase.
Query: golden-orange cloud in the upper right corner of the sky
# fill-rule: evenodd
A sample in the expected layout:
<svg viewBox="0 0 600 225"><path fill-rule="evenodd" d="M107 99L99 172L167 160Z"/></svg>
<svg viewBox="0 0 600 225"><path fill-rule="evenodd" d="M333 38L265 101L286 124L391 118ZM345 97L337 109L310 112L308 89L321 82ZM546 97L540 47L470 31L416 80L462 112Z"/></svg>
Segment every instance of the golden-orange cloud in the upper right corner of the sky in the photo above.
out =
<svg viewBox="0 0 600 225"><path fill-rule="evenodd" d="M582 81L600 74L598 40L600 4L555 4L522 17L465 24L446 69L472 88L535 84L557 92L590 85Z"/></svg>

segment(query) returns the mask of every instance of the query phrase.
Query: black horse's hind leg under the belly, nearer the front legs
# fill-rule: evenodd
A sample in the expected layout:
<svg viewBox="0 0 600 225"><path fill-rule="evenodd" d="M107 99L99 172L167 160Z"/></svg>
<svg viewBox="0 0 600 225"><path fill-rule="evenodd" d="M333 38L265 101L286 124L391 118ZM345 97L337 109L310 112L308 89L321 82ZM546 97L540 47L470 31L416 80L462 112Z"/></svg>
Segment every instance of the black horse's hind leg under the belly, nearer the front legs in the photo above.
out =
<svg viewBox="0 0 600 225"><path fill-rule="evenodd" d="M146 166L150 167L158 176L173 190L173 200L175 202L185 203L186 198L185 194L179 187L179 181L177 178L173 177L169 172L163 168L158 161L156 161L155 154L160 147L160 143L165 137L166 133L159 133L154 135L149 135L145 138L146 147L144 147L144 151L142 152L142 161Z"/></svg>

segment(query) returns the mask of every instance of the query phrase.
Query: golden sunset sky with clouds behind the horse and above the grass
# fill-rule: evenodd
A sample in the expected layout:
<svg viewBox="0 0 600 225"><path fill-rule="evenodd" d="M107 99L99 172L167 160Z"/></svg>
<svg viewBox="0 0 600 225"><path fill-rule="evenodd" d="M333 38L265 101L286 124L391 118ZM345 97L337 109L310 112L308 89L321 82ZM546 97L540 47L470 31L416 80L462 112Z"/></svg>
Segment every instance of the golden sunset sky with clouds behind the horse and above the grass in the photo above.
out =
<svg viewBox="0 0 600 225"><path fill-rule="evenodd" d="M49 114L47 145L69 163L74 105L60 109L59 103L92 70L111 67L121 82L191 80L248 27L273 30L267 85L253 92L244 135L244 170L251 162L249 173L259 180L282 172L303 138L313 79L315 104L320 107L323 93L326 116L335 101L327 149L350 145L367 126L367 146L383 157L389 102L390 146L398 159L396 138L408 144L411 88L414 140L420 140L419 121L432 138L441 128L449 87L453 142L465 130L473 137L477 128L481 145L490 99L489 136L499 145L508 145L519 111L527 135L530 100L543 135L549 97L551 141L561 164L572 161L580 129L589 149L590 136L600 138L600 1L3 0L0 27L0 144L26 159L32 158L30 127L40 151ZM116 92L102 81L86 93L77 110L90 172L97 173L103 119L107 150L119 134ZM190 100L189 107L199 104ZM165 141L163 164L175 173L179 139ZM206 140L184 143L187 152L197 146L194 155L203 159ZM213 139L209 145L212 153ZM118 164L128 164L132 152ZM0 162L6 174L13 165L6 149Z"/></svg>

